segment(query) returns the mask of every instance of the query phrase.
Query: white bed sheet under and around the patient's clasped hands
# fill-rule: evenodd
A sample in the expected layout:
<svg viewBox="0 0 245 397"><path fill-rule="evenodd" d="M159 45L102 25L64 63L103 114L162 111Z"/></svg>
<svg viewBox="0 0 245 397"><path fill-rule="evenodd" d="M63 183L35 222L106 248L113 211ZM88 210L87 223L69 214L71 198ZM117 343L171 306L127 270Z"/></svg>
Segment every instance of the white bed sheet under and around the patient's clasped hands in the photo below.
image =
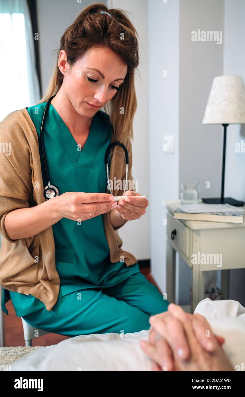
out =
<svg viewBox="0 0 245 397"><path fill-rule="evenodd" d="M245 364L245 308L237 301L199 302L195 313L202 314L217 335L236 370ZM40 347L15 361L12 371L150 371L149 358L139 340L148 340L149 330L126 333L79 335L57 345Z"/></svg>

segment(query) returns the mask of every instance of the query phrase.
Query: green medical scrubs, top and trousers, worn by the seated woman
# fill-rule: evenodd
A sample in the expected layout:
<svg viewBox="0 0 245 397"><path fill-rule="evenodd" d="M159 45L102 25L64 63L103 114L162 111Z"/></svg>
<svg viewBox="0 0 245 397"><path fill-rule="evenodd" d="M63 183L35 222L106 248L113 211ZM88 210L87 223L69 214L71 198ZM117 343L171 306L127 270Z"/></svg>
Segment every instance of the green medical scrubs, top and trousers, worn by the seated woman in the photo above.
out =
<svg viewBox="0 0 245 397"><path fill-rule="evenodd" d="M44 185L40 129L45 104L27 109L39 138ZM104 156L111 130L99 112L93 117L83 149L77 150L66 124L54 106L49 106L44 144L50 180L56 181L60 194L74 190L106 193ZM168 301L140 273L138 263L128 267L120 261L110 263L102 215L83 222L62 218L52 230L60 277L58 301L48 311L32 295L4 290L10 294L17 316L36 328L76 336L149 329L149 316L167 310ZM7 312L4 295L2 305Z"/></svg>

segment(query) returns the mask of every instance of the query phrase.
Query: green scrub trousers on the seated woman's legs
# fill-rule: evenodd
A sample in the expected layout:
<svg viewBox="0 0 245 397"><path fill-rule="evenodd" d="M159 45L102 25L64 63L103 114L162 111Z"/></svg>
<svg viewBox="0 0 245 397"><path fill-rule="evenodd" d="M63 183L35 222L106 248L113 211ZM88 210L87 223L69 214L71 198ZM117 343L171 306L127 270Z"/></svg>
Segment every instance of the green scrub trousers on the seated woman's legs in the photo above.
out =
<svg viewBox="0 0 245 397"><path fill-rule="evenodd" d="M81 289L23 316L35 328L74 337L91 333L133 333L150 328L149 316L167 310L155 285L136 273L112 287Z"/></svg>

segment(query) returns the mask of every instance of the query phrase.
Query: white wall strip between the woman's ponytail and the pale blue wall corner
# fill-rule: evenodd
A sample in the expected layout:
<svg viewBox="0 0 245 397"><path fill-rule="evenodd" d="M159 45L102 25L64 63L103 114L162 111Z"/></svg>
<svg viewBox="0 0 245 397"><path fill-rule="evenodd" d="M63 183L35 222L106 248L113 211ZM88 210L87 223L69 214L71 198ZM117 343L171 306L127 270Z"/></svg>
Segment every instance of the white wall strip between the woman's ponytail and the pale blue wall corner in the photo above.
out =
<svg viewBox="0 0 245 397"><path fill-rule="evenodd" d="M123 240L123 248L132 252L137 258L150 258L149 215L152 206L152 193L149 188L149 103L148 103L148 25L147 0L112 0L109 8L121 8L133 23L139 35L139 67L135 71L135 89L137 94L137 112L134 118L133 131L133 179L138 180L138 193L148 195L149 206L141 218L128 221L118 230Z"/></svg>

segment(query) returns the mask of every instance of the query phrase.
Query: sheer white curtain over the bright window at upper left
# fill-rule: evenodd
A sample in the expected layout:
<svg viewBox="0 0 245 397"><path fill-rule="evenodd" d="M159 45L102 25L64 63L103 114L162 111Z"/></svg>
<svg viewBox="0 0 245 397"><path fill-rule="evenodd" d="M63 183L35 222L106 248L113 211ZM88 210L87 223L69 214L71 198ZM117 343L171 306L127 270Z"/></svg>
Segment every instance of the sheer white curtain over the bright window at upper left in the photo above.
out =
<svg viewBox="0 0 245 397"><path fill-rule="evenodd" d="M0 0L0 121L40 100L35 33L26 0Z"/></svg>

